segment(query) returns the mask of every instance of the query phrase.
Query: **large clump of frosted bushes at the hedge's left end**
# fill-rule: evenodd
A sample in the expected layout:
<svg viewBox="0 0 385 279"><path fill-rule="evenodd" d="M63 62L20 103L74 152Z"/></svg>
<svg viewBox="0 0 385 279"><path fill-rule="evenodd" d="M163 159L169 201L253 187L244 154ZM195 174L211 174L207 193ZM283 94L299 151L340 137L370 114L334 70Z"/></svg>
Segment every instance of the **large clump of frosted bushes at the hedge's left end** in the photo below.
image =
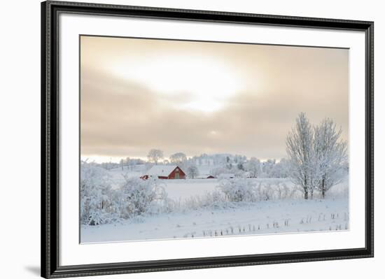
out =
<svg viewBox="0 0 385 279"><path fill-rule="evenodd" d="M172 209L172 201L158 179L127 177L118 189L111 189L111 176L105 169L83 163L80 170L82 224L108 224Z"/></svg>

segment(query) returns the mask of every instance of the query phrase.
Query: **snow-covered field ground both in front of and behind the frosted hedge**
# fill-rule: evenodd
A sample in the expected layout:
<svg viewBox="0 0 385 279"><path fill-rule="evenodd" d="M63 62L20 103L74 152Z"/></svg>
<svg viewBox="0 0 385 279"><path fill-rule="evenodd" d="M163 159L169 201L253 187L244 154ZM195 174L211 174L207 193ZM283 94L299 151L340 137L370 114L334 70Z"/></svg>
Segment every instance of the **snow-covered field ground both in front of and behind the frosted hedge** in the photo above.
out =
<svg viewBox="0 0 385 279"><path fill-rule="evenodd" d="M116 185L123 180L110 171ZM137 172L132 172L135 176ZM248 178L253 183L281 183L295 189L288 178ZM217 179L162 180L169 199L183 205L216 191ZM329 190L326 199L304 200L301 192L290 199L237 202L226 206L193 209L181 206L172 213L139 215L116 224L82 225L81 243L148 239L221 237L242 234L275 234L349 229L348 180Z"/></svg>

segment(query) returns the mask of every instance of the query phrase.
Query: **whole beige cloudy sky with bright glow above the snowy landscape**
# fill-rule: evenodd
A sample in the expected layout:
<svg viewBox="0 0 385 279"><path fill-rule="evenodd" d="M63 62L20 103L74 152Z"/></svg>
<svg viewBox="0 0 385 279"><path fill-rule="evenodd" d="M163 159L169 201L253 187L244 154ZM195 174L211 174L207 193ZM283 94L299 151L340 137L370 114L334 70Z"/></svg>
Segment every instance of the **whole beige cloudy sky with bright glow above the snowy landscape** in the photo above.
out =
<svg viewBox="0 0 385 279"><path fill-rule="evenodd" d="M301 111L347 139L348 67L343 49L82 36L81 156L279 159Z"/></svg>

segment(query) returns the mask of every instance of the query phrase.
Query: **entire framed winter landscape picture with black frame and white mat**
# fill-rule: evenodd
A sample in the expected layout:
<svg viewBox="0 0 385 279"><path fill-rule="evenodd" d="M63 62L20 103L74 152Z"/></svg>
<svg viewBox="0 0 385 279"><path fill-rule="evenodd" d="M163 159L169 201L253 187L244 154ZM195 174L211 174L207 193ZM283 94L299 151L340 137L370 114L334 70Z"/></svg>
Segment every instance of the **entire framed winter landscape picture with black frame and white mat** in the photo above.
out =
<svg viewBox="0 0 385 279"><path fill-rule="evenodd" d="M41 3L41 276L373 257L373 22Z"/></svg>

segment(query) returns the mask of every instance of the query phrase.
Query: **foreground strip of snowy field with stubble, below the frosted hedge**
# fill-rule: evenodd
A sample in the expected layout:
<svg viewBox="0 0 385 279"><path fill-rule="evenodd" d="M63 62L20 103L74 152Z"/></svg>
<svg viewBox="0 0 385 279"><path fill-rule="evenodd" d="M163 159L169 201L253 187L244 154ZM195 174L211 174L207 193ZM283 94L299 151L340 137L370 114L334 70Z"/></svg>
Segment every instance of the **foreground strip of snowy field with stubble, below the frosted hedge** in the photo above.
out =
<svg viewBox="0 0 385 279"><path fill-rule="evenodd" d="M349 229L347 198L276 200L235 208L188 210L81 228L81 242L275 234Z"/></svg>

